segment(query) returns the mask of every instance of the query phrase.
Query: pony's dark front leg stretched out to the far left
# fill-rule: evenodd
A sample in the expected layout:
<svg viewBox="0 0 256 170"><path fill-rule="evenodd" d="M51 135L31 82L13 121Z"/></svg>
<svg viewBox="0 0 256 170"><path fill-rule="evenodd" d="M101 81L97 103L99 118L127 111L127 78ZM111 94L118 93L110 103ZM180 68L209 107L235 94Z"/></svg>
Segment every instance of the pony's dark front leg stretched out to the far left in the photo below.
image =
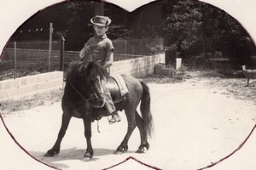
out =
<svg viewBox="0 0 256 170"><path fill-rule="evenodd" d="M67 127L70 122L70 119L71 119L70 115L68 115L67 113L63 113L61 129L59 131L58 138L57 138L54 146L50 150L48 150L44 156L55 156L55 154L58 154L60 152L61 140L63 139L63 137L67 131Z"/></svg>

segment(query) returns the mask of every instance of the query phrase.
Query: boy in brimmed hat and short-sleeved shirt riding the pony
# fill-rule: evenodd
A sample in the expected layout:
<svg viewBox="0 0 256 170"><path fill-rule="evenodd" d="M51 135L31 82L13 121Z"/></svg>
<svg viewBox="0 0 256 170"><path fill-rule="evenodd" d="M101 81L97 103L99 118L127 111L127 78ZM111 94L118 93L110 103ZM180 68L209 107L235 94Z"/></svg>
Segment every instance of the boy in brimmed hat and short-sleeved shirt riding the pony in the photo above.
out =
<svg viewBox="0 0 256 170"><path fill-rule="evenodd" d="M96 15L90 19L90 22L93 24L96 36L90 37L88 42L84 44L84 48L80 51L79 57L80 59L100 63L109 74L110 66L113 65L113 43L107 37L106 32L108 31L111 20L107 16ZM113 105L113 100L108 89L104 89L104 94L106 98L104 107L108 115L112 115L109 123L120 122L121 119Z"/></svg>

